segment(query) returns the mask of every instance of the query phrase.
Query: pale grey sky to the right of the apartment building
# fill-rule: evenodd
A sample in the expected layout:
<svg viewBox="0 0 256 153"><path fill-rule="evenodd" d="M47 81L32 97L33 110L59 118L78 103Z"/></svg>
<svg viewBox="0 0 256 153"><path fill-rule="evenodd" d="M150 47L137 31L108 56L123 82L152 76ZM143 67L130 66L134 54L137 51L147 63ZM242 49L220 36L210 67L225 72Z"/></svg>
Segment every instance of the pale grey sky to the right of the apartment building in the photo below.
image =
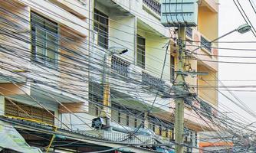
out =
<svg viewBox="0 0 256 153"><path fill-rule="evenodd" d="M248 17L251 19L252 24L256 28L256 14L251 8L250 3L247 0L239 0L241 5L248 14ZM229 31L238 28L239 25L245 24L245 20L240 15L238 8L236 8L233 0L219 0L219 21L218 21L218 35L222 36L223 34L228 33ZM255 23L254 23L255 22ZM219 41L256 41L256 37L251 32L246 34L239 34L234 32L229 34L226 37L223 37ZM256 43L254 44L227 44L221 43L218 44L218 47L231 47L231 48L246 48L254 50L219 50L219 55L228 55L228 56L248 56L256 57ZM232 61L232 62L254 62L256 63L256 58L254 59L241 59L241 58L227 58L219 57L219 61ZM256 86L256 64L237 64L237 63L219 63L219 73L218 80L222 80L226 86L242 86L242 85L255 85ZM235 80L235 81L231 81ZM246 81L242 81L246 80ZM251 81L248 81L251 80ZM222 84L219 83L221 86ZM225 90L225 89L220 89ZM238 89L230 88L230 90L255 90L256 88L251 89ZM227 91L222 91L229 97L232 97ZM256 112L256 92L238 92L234 91L235 96L241 99L242 103L245 103L249 109ZM226 99L224 96L219 94L219 109L222 112L226 112L228 116L244 116L244 121L256 122L256 117L250 116L247 112L241 110L234 103L231 103L230 100ZM235 99L234 97L232 99ZM238 100L236 100L238 102ZM232 113L230 113L232 112ZM236 113L235 113L236 112ZM256 113L255 113L256 114ZM255 124L256 125L256 124Z"/></svg>

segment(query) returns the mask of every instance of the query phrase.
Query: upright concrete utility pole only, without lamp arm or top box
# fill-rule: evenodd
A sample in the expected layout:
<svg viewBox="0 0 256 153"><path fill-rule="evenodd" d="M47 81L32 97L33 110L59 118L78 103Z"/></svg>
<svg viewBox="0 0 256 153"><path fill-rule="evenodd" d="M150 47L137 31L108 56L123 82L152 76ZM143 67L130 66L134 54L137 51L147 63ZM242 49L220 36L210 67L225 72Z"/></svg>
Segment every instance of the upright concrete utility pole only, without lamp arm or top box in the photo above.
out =
<svg viewBox="0 0 256 153"><path fill-rule="evenodd" d="M176 83L174 84L175 90L178 95L182 95L182 92L185 91L185 44L183 41L185 40L185 27L179 28L178 31L178 67L176 71ZM184 98L178 97L175 100L176 103L176 116L175 116L175 142L176 142L176 153L183 153L183 132L184 132Z"/></svg>

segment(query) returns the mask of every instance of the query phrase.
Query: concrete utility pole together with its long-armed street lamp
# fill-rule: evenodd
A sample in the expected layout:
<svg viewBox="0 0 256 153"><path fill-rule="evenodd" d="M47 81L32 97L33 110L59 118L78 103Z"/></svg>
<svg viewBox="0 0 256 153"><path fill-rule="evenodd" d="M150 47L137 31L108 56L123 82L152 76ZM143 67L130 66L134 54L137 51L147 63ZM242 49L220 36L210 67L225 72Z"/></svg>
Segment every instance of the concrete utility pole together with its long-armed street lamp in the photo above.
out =
<svg viewBox="0 0 256 153"><path fill-rule="evenodd" d="M228 32L227 34L222 35L221 37L215 38L213 41L210 41L206 44L203 44L202 46L195 48L195 50L199 50L201 47L205 47L207 44L211 44L215 41L218 41L218 39L227 36L228 34L231 34L235 31L238 31L240 34L244 34L248 31L251 31L251 26L248 24L243 24L236 28L233 31ZM185 91L185 27L179 28L178 31L178 46L179 46L179 51L178 51L178 67L176 71L176 83L174 84L176 94L182 95L184 94ZM195 52L195 50L192 50L192 53ZM191 56L192 53L189 55ZM176 153L183 153L183 132L184 132L184 97L178 97L175 100L176 102L176 117L175 117L175 140L176 140Z"/></svg>

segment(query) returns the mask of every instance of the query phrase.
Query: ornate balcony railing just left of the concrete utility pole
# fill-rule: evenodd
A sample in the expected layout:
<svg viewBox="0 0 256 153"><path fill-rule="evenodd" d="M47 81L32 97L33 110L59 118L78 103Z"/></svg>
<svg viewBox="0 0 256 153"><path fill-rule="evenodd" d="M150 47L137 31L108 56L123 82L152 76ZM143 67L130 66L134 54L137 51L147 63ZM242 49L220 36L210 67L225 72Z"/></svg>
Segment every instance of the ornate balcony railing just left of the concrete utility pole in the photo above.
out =
<svg viewBox="0 0 256 153"><path fill-rule="evenodd" d="M149 73L143 72L143 79L142 83L143 85L149 86L150 88L153 88L155 90L159 90L161 92L164 92L165 88L165 81L160 80L157 77L151 76Z"/></svg>

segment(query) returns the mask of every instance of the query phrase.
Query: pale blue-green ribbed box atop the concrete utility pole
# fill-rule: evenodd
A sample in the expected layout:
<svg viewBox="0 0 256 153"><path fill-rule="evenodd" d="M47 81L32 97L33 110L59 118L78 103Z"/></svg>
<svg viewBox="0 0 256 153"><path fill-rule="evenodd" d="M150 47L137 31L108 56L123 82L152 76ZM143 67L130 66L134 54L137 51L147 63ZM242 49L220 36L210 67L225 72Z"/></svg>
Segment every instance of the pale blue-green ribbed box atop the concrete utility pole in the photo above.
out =
<svg viewBox="0 0 256 153"><path fill-rule="evenodd" d="M166 27L195 27L197 0L161 0L161 23Z"/></svg>

